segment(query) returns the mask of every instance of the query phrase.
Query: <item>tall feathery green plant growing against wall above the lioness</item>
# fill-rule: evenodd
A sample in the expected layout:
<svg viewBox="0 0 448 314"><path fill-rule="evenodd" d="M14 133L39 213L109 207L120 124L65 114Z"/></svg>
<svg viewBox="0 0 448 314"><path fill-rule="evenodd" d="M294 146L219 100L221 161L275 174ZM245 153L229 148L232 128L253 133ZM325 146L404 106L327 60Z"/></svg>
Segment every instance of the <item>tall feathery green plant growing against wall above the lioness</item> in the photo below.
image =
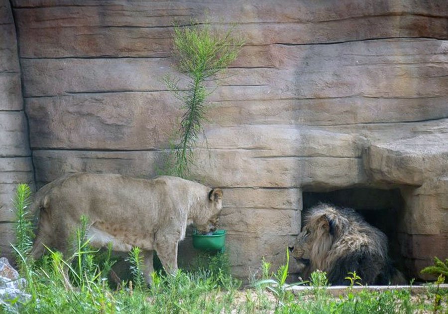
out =
<svg viewBox="0 0 448 314"><path fill-rule="evenodd" d="M188 78L187 87L180 87L180 79L165 78L167 86L182 101L185 113L179 128L172 166L180 177L189 174L194 163L193 146L204 134L203 122L208 109L206 98L212 93L206 82L227 68L237 57L243 40L232 36L233 28L224 32L214 31L211 25L192 22L191 26L175 26L173 57L177 68Z"/></svg>

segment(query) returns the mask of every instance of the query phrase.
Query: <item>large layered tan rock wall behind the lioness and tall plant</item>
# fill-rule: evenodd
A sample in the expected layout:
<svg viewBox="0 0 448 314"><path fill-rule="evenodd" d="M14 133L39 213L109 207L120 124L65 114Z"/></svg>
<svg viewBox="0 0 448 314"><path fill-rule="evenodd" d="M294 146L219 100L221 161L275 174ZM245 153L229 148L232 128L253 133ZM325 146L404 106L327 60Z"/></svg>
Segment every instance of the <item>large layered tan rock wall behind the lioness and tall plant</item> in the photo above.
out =
<svg viewBox="0 0 448 314"><path fill-rule="evenodd" d="M225 188L234 273L261 256L283 262L302 191L347 187L401 189L390 241L408 274L447 257L446 1L11 2L38 186L77 171L156 173L181 115L161 82L172 22L208 12L246 38L210 97L211 160L198 146L195 169Z"/></svg>

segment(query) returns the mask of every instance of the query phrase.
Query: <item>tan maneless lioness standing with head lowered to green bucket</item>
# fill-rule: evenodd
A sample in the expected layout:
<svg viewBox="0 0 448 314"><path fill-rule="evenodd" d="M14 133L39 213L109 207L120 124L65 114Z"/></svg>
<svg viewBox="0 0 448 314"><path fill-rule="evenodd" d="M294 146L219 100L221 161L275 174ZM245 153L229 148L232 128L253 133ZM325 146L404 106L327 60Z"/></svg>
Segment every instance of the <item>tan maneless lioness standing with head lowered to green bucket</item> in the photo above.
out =
<svg viewBox="0 0 448 314"><path fill-rule="evenodd" d="M87 237L94 247L112 244L127 252L133 246L144 252L146 280L153 271L157 252L167 272L177 270L177 244L193 223L209 232L218 222L223 191L178 177L152 180L118 174L78 173L43 186L35 195L32 210L40 209L39 227L32 255L40 257L44 245L67 253L68 239L89 219Z"/></svg>

